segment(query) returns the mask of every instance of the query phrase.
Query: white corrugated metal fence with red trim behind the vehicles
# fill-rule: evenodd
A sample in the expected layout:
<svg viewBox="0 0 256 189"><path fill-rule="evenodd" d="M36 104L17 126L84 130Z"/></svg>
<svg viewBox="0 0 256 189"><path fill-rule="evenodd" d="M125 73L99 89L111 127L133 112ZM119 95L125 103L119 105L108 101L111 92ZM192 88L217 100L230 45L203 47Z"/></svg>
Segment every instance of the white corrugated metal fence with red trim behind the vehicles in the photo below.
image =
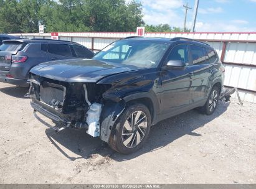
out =
<svg viewBox="0 0 256 189"><path fill-rule="evenodd" d="M20 35L20 34L14 34ZM60 32L60 40L72 40L95 52L134 32ZM50 34L22 34L26 38L50 39ZM242 100L256 103L256 32L246 33L146 33L145 37L187 37L216 48L225 66L225 86L239 88ZM234 95L236 98L236 96Z"/></svg>

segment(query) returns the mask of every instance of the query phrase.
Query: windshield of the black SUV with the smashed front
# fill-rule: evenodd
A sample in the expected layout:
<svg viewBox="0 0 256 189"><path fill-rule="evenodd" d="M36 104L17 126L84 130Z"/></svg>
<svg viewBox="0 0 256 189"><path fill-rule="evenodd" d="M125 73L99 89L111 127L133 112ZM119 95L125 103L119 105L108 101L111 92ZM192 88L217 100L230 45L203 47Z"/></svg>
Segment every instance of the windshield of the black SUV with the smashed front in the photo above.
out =
<svg viewBox="0 0 256 189"><path fill-rule="evenodd" d="M93 59L140 68L153 68L158 66L168 47L169 44L163 42L120 40L103 48Z"/></svg>

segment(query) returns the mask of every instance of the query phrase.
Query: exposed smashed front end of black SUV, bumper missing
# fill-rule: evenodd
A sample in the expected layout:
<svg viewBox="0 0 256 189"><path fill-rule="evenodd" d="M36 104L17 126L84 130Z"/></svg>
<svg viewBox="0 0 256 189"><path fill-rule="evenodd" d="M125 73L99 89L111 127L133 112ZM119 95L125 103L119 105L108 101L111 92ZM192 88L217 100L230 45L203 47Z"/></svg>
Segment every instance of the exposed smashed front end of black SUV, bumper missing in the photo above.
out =
<svg viewBox="0 0 256 189"><path fill-rule="evenodd" d="M100 101L92 101L92 95L90 94L92 92L92 88L87 86L87 84L75 84L79 85L81 87L80 89L82 90L75 91L74 89L77 88L70 88L69 85L65 85L64 83L65 86L63 88L65 90L63 91L63 101L59 99L59 96L61 95L59 94L59 96L54 96L56 99L59 99L59 106L55 105L55 103L52 105L52 103L49 103L49 101L52 102L55 101L55 99L40 98L40 93L42 93L40 90L44 90L44 88L41 87L44 85L44 82L51 85L49 84L49 81L31 80L31 88L27 94L27 96L30 96L32 99L31 106L34 109L34 116L40 122L57 132L68 127L75 129L86 129L87 134L90 134L93 137L100 136L103 141L108 142L116 120L125 109L125 101L123 101L123 99L116 101L116 97L111 99L110 96L102 95ZM62 84L63 83L55 83L51 86L60 88L60 85ZM87 87L89 87L88 91ZM50 90L48 89L48 91ZM70 102L70 91L72 91L72 93L74 93L73 91L75 91L75 93L83 93L82 102L80 102L79 106L73 109L73 111L67 111L67 107L69 106L68 102ZM88 98L89 96L91 101ZM51 119L56 126L50 126L50 124L41 119L37 113Z"/></svg>

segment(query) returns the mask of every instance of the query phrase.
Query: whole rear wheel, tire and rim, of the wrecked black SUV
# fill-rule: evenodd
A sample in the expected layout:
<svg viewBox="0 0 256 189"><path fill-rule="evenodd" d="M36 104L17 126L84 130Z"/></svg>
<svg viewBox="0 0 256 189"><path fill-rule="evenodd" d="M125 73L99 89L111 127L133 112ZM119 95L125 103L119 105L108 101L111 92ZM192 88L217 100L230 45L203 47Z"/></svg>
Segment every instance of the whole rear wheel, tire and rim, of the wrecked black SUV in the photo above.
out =
<svg viewBox="0 0 256 189"><path fill-rule="evenodd" d="M202 114L211 115L214 113L214 111L217 108L217 105L219 104L219 93L219 88L217 86L214 86L207 98L206 104L199 108L199 111Z"/></svg>

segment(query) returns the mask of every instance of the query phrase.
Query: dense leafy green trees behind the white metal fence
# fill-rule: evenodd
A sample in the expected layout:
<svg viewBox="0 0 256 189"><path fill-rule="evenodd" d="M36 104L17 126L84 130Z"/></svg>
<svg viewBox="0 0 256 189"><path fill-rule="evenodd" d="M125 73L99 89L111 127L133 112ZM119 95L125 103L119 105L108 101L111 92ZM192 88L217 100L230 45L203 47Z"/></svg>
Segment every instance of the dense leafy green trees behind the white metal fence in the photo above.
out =
<svg viewBox="0 0 256 189"><path fill-rule="evenodd" d="M0 32L131 32L143 22L142 5L125 0L0 0ZM182 31L169 24L146 32Z"/></svg>

